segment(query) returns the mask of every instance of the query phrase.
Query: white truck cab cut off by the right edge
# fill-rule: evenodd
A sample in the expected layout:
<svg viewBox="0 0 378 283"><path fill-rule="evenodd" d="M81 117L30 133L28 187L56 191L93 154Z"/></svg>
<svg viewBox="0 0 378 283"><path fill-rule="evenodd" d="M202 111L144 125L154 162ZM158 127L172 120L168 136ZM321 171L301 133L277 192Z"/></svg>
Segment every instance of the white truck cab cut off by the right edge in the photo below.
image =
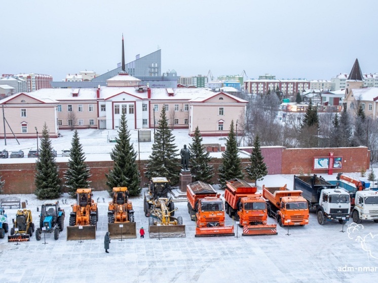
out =
<svg viewBox="0 0 378 283"><path fill-rule="evenodd" d="M355 206L352 212L355 223L373 220L378 223L378 192L372 190L356 191Z"/></svg>

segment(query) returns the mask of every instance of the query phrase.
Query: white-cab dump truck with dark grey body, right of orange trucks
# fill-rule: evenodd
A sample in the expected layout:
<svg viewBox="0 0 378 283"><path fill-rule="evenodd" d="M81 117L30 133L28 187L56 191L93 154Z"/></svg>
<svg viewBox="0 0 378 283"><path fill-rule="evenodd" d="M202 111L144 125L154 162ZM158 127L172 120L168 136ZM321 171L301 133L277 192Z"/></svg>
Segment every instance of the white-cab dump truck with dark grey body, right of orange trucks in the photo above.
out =
<svg viewBox="0 0 378 283"><path fill-rule="evenodd" d="M345 224L351 212L350 195L343 188L336 188L316 174L313 176L295 176L294 190L301 190L307 199L309 209L317 214L318 223L324 225L326 221L338 220Z"/></svg>

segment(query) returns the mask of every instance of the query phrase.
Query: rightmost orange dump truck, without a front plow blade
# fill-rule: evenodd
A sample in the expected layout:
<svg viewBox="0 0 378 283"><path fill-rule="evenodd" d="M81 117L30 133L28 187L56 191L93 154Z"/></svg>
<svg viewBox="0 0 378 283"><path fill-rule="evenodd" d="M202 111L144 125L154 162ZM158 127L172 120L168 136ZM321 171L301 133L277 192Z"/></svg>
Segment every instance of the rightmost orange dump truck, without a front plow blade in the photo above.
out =
<svg viewBox="0 0 378 283"><path fill-rule="evenodd" d="M301 190L288 190L283 187L262 186L262 196L267 199L268 216L277 220L281 227L309 224L307 199Z"/></svg>

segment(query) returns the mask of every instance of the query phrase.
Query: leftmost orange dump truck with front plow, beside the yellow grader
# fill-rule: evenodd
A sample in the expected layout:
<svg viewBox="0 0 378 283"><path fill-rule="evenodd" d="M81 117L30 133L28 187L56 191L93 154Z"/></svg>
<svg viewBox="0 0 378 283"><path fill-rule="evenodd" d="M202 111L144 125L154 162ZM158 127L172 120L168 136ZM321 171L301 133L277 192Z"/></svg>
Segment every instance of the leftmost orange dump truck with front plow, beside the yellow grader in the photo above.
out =
<svg viewBox="0 0 378 283"><path fill-rule="evenodd" d="M196 221L196 237L233 236L234 226L225 226L224 206L214 188L197 181L186 186L188 213Z"/></svg>

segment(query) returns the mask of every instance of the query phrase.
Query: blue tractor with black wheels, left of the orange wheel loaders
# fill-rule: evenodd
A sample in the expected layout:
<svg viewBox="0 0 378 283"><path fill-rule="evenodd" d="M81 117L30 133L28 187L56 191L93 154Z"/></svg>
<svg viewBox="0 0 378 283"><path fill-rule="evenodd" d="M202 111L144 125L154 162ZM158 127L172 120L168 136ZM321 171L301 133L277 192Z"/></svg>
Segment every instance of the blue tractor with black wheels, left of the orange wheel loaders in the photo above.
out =
<svg viewBox="0 0 378 283"><path fill-rule="evenodd" d="M39 208L37 208L39 212ZM37 241L41 239L42 231L45 233L54 233L54 239L59 238L59 232L63 231L64 210L60 209L59 201L55 204L44 204L41 207L40 227L35 230Z"/></svg>

